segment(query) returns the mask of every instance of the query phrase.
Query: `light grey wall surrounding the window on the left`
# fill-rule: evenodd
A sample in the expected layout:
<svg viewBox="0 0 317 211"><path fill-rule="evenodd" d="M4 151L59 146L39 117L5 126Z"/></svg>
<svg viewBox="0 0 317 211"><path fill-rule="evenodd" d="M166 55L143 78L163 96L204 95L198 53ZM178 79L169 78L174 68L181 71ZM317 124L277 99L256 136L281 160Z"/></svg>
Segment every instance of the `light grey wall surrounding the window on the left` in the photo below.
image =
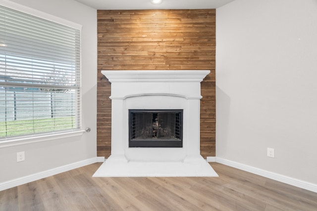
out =
<svg viewBox="0 0 317 211"><path fill-rule="evenodd" d="M0 143L0 183L97 157L97 11L74 0L13 1L82 25L82 128L91 132L18 146ZM17 163L20 151L26 160Z"/></svg>

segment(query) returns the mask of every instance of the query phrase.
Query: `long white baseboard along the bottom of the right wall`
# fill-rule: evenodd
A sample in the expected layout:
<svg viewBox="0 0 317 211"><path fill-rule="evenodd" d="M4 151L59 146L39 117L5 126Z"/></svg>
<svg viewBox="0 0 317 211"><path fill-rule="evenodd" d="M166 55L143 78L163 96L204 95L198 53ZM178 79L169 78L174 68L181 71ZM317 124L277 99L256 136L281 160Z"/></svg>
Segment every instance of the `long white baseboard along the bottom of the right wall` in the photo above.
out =
<svg viewBox="0 0 317 211"><path fill-rule="evenodd" d="M267 171L267 170L264 170L264 169L255 168L255 167L252 167L252 166L248 166L248 165L245 165L245 164L237 163L237 162L230 161L230 160L223 159L223 158L215 157L215 162L220 163L220 164L224 164L226 166L230 166L230 167L233 167L233 168L236 168L236 169L241 169L241 170L244 170L244 171L255 173L257 175L264 176L264 177L269 178L269 179L273 179L273 180L276 180L276 181L279 181L279 182L283 182L283 183L286 183L286 184L289 184L289 185L293 185L293 186L296 186L296 187L299 187L299 188L303 188L303 189L306 189L306 190L313 191L313 192L317 193L317 184L315 184L315 183L303 181L303 180L296 179L296 178L293 178L293 177L289 177L289 176L285 176L285 175L282 175L282 174L278 174L278 173L274 173L274 172L271 172L271 171Z"/></svg>

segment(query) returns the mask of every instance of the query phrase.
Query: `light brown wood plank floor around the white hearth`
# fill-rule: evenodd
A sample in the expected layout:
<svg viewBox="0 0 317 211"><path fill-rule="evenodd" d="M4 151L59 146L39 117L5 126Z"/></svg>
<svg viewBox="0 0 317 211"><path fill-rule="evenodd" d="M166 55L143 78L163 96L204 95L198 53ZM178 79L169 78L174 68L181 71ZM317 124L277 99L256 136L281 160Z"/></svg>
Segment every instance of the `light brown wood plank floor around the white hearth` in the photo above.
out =
<svg viewBox="0 0 317 211"><path fill-rule="evenodd" d="M0 211L316 211L317 193L211 163L219 177L92 177L101 163L0 192Z"/></svg>

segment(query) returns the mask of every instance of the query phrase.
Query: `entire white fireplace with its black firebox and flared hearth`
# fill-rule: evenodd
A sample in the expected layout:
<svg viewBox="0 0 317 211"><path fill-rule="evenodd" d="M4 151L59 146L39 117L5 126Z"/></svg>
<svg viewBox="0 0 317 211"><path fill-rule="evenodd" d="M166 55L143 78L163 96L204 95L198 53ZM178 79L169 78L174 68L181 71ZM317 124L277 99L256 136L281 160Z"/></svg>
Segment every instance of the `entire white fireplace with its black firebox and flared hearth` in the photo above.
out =
<svg viewBox="0 0 317 211"><path fill-rule="evenodd" d="M111 155L94 176L217 176L200 155L200 83L209 73L102 71L111 83Z"/></svg>

